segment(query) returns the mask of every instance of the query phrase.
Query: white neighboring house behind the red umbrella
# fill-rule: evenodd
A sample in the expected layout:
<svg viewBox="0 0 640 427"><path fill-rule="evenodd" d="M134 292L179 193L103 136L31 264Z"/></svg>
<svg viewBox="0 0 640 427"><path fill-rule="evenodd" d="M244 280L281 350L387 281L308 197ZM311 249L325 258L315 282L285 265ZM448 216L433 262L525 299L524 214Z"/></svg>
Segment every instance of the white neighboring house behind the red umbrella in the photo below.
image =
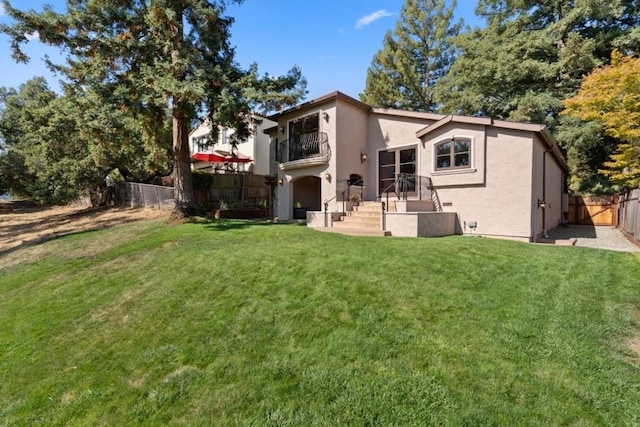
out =
<svg viewBox="0 0 640 427"><path fill-rule="evenodd" d="M251 172L259 175L275 174L277 170L274 160L275 147L270 145L271 141L264 130L275 126L276 123L257 113L253 113L252 122L251 135L234 150L229 143L234 129L221 126L218 129L217 142L209 145L207 136L211 133L211 124L208 120L202 121L189 133L189 149L192 156L196 153L213 154L213 156L211 161L197 160L192 157L192 168L213 169L220 172ZM235 157L242 161L229 162L224 160L225 157L227 159Z"/></svg>

